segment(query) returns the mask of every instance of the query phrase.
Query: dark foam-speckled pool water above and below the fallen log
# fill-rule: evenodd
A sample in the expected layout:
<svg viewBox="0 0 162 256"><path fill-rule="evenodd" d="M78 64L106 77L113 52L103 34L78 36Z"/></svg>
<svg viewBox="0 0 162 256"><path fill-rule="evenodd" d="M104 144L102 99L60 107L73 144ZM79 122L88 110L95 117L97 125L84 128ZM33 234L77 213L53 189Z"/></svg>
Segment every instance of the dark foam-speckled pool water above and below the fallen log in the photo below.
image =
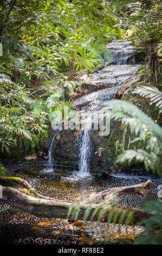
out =
<svg viewBox="0 0 162 256"><path fill-rule="evenodd" d="M33 167L31 167L33 166ZM19 168L18 168L19 167ZM22 168L24 167L24 168ZM157 185L161 184L158 176L153 174L138 173L132 178L121 178L120 176L100 177L96 173L87 179L78 179L76 172L64 168L57 168L55 173L44 173L44 167L32 165L8 166L10 176L18 176L25 179L29 184L45 196L57 199L73 200L77 197L87 197L92 192L99 192L108 187L119 187L138 184L152 179ZM23 170L22 170L23 169ZM123 196L120 204L129 205L133 208L141 208L147 200L139 196ZM157 188L152 186L152 199L157 199ZM119 234L119 225L100 222L76 221L74 223L59 218L41 218L22 212L4 203L0 203L0 241L1 245L93 245L107 243L108 239L129 238L132 241L142 231L139 226L127 229L122 225Z"/></svg>

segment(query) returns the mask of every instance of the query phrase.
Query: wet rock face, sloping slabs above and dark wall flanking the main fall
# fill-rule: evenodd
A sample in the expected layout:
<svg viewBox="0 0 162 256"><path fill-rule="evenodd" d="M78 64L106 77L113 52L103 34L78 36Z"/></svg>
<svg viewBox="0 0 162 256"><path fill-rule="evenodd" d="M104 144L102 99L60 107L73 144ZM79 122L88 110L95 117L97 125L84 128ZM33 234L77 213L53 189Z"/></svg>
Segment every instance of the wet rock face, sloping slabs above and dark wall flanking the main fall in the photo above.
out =
<svg viewBox="0 0 162 256"><path fill-rule="evenodd" d="M72 100L72 105L79 113L94 114L99 113L104 101L112 100L114 95L118 95L120 88L126 89L139 80L137 71L139 64L134 64L135 48L130 41L114 40L107 46L111 51L114 61L112 63L105 60L103 69L90 74L83 75L81 83L84 84L86 95ZM110 124L110 133L114 129L115 123ZM75 162L79 160L79 144L81 142L82 130L63 130L57 135L53 147L53 156L55 161ZM105 168L113 162L113 154L104 154L99 157L95 152L98 148L106 148L109 141L109 135L100 136L99 130L92 130L90 139L90 167ZM113 142L114 143L114 142Z"/></svg>

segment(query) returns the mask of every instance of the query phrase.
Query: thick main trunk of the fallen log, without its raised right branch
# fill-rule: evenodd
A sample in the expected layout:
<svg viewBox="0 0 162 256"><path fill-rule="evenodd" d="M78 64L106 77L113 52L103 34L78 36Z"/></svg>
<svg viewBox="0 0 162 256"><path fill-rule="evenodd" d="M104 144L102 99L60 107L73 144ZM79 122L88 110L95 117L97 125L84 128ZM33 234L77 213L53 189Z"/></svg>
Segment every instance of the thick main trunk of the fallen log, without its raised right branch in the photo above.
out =
<svg viewBox="0 0 162 256"><path fill-rule="evenodd" d="M4 187L3 186L3 198L1 202L7 203L11 206L14 206L17 209L28 212L31 215L38 217L47 217L47 218L67 218L68 209L72 205L72 202L66 200L57 200L57 199L43 199L35 198L24 194L21 191L18 191L16 188ZM83 220L85 210L89 204L85 204L81 207L80 213L77 217L77 220ZM87 220L90 220L94 209L98 204L91 204L92 210L90 210L89 217ZM119 209L119 217L125 209ZM142 212L138 209L132 209L133 211L133 224L137 224L139 221L144 220L148 217L151 217L151 214L147 212ZM114 212L115 213L115 212ZM102 216L101 222L107 222L109 211ZM118 223L119 217L116 221ZM98 216L95 215L93 221L98 221Z"/></svg>

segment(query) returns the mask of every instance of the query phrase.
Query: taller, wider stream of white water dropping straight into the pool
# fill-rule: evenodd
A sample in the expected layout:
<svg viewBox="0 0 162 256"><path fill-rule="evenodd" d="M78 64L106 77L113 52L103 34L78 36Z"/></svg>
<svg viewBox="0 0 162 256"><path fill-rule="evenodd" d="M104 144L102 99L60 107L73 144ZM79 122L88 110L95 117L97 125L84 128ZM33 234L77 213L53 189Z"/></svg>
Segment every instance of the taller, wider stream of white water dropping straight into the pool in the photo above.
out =
<svg viewBox="0 0 162 256"><path fill-rule="evenodd" d="M86 119L83 123L83 133L81 137L81 143L79 147L79 176L89 176L89 150L90 150L90 142L89 137L92 132L91 123L89 119Z"/></svg>

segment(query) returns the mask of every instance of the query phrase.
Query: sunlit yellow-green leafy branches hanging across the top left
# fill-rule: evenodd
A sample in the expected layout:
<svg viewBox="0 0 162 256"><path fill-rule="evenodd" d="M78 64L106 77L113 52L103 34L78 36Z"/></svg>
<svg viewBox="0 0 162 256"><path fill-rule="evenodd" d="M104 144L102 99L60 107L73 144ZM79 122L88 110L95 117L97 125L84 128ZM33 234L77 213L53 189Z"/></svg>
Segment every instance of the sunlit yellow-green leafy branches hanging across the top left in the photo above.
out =
<svg viewBox="0 0 162 256"><path fill-rule="evenodd" d="M3 3L2 21L10 7L9 2ZM51 81L51 75L62 78L60 64L69 66L75 56L77 69L91 70L101 59L96 58L100 49L106 50L104 42L115 35L115 29L103 21L109 12L102 1L91 0L88 4L79 0L15 2L7 22L1 24L1 69L9 66L10 75L12 72L18 80L28 78L30 82L32 76L37 75ZM14 67L21 73L18 77Z"/></svg>

